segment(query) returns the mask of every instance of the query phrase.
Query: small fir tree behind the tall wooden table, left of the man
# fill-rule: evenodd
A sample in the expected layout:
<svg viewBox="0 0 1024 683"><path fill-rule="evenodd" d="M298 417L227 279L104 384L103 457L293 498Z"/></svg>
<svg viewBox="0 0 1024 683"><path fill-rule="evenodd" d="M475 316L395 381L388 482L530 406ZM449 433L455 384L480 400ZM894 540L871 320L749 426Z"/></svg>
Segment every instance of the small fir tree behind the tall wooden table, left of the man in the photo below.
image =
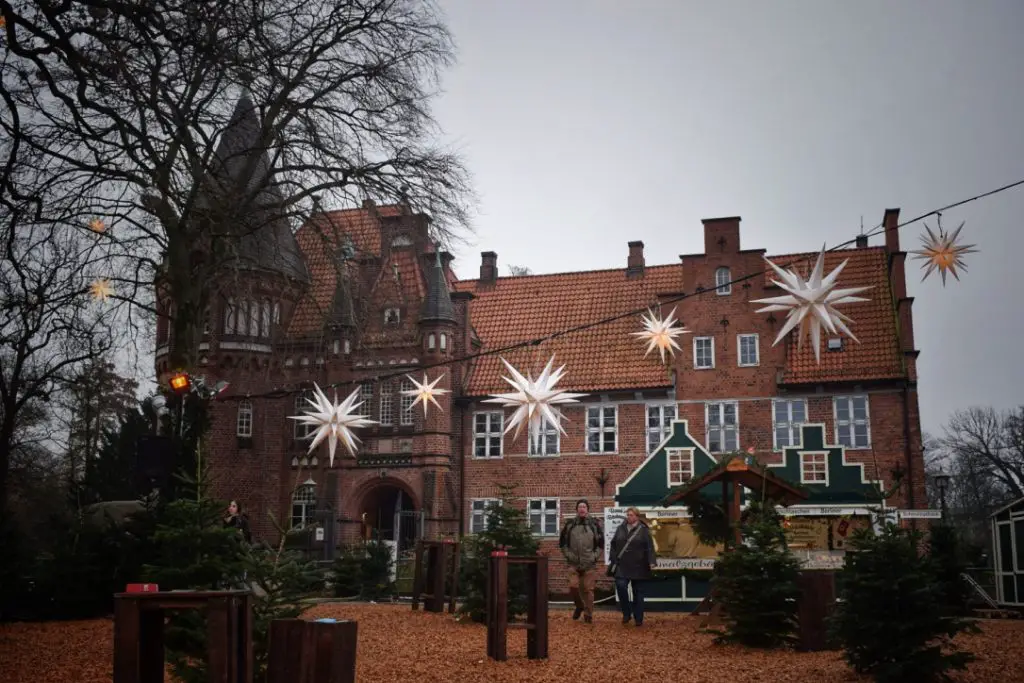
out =
<svg viewBox="0 0 1024 683"><path fill-rule="evenodd" d="M500 502L486 511L483 531L466 539L460 580L463 603L460 613L482 623L486 617L487 563L495 550L509 555L536 555L540 544L529 528L526 513L514 507L515 486L499 486ZM526 567L509 566L509 621L526 613Z"/></svg>

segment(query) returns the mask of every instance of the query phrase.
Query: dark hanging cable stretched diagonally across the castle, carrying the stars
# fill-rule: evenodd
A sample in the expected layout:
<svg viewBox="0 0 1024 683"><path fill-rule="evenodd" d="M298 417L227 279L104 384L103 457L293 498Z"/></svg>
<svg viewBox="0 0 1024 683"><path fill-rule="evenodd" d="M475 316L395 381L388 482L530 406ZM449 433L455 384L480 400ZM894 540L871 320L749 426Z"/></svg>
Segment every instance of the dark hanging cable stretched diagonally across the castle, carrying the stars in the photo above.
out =
<svg viewBox="0 0 1024 683"><path fill-rule="evenodd" d="M923 213L920 216L915 216L915 217L910 218L908 220L904 220L904 221L902 221L900 223L897 223L892 228L886 228L886 226L883 223L880 223L879 225L874 226L867 233L867 237L873 237L873 236L877 236L877 234L881 234L883 232L888 231L888 229L893 229L893 230L897 230L898 231L902 227L905 227L905 226L910 225L912 223L916 223L919 221L924 220L925 218L937 215L937 214L939 214L939 213L941 213L943 211L948 211L950 209L955 209L957 207L964 206L965 204L970 204L972 202L977 202L979 200L982 200L982 199L985 199L985 198L988 198L988 197L992 197L993 195L998 195L999 193L1005 193L1005 191L1007 191L1009 189L1013 189L1013 188L1018 187L1020 185L1024 185L1024 178L1022 178L1020 180L1017 180L1015 182L1008 183L1008 184L1002 185L1000 187L996 187L995 189L990 189L990 190L982 193L980 195L975 195L974 197L970 197L970 198L965 199L965 200L959 200L957 202L953 202L952 204L947 204L946 206L939 207L937 209L932 209L931 211ZM858 237L862 237L862 236L858 236ZM852 240L847 240L846 242L840 243L840 244L838 244L838 245L836 245L834 247L830 247L830 248L826 249L825 251L826 252L834 252L834 251L838 251L840 249L843 249L845 247L849 247L850 245L853 245L853 244L855 244L857 242L858 237L855 237ZM794 259L792 261L788 261L786 263L786 266L791 266L792 267L793 265L796 265L796 264L802 263L802 262L810 263L815 258L817 258L817 252L810 253L807 256L804 256L802 258L798 258L798 259ZM730 281L728 283L728 286L731 287L733 285L737 285L739 283L743 283L743 282L746 282L749 280L754 280L755 278L763 278L765 274L767 274L769 272L771 272L770 268L765 268L764 270L759 270L759 271L756 271L756 272L752 272L752 273L749 273L746 275L742 275L742 276L736 278L735 280ZM713 290L709 290L709 291L713 291ZM695 296L700 296L701 294L705 294L705 293L706 293L705 291L700 291L700 292L694 292L692 294L680 294L679 296L676 296L676 297L673 297L671 299L668 299L668 300L666 300L666 301L664 301L662 303L663 303L663 305L672 305L674 303L678 303L678 302L683 301L685 299L689 299L689 298L692 298L692 297L695 297ZM557 332L552 332L550 334L547 334L547 335L544 335L544 336L541 336L541 337L537 337L537 338L534 338L534 339L528 339L528 340L525 340L525 341L521 341L521 342L516 342L514 344L509 344L509 345L502 346L502 347L499 347L499 348L493 348L493 349L487 349L487 350L484 350L484 351L478 351L476 353L467 353L466 355L462 355L462 356L459 356L457 358L452 358L452 359L449 359L449 360L440 360L438 362L432 362L432 364L428 364L428 365L421 365L421 366L417 367L417 370L424 371L424 370L431 370L431 369L434 369L434 368L445 368L447 366L451 366L451 365L454 365L454 364L457 364L457 362L465 362L465 361L468 361L468 360L474 360L474 359L477 359L477 358L483 358L483 357L490 356L490 355L498 355L498 354L508 353L510 351L514 351L514 350L517 350L517 349L520 349L520 348L525 348L527 346L538 346L540 344L543 344L544 342L552 341L552 340L557 339L559 337L563 337L563 336L566 336L566 335L575 334L578 332L584 332L586 330L590 330L590 329L593 329L593 328L596 328L596 327L600 327L602 325L608 325L610 323L615 323L615 322L621 321L623 318L632 317L634 315L641 315L641 314L643 314L646 311L647 311L647 306L642 306L640 308L636 308L636 309L633 309L633 310L628 310L628 311L623 312L623 313L617 313L615 315L610 315L608 317L603 317L603 318L600 318L600 319L597 319L597 321L592 321L590 323L584 323L582 325L578 325L578 326L574 326L574 327L571 327L571 328L566 328L564 330L559 330ZM327 386L330 387L330 388L338 388L338 387L341 387L341 386L352 385L354 387L356 384L362 384L362 383L367 383L367 382L373 382L373 383L386 382L388 380L391 380L391 379L394 379L394 378L397 378L397 377L403 377L407 374L407 372L408 371L397 371L397 372L392 372L392 373L386 373L386 374L382 374L382 375L377 375L377 376L372 377L372 378L362 378L362 379L359 379L359 380L351 380L351 381L348 381L348 382L334 382L332 384L328 384ZM262 392L262 393L253 393L253 394L245 394L245 395L240 394L240 395L237 395L237 396L236 395L218 396L218 400L227 401L227 400L241 400L241 399L244 399L244 398L281 398L281 397L284 397L284 396L289 396L289 395L292 395L292 394L300 393L300 392L302 392L305 389L303 387L297 387L297 388L294 388L294 389L288 389L288 388L272 389L270 391L265 391L265 392Z"/></svg>

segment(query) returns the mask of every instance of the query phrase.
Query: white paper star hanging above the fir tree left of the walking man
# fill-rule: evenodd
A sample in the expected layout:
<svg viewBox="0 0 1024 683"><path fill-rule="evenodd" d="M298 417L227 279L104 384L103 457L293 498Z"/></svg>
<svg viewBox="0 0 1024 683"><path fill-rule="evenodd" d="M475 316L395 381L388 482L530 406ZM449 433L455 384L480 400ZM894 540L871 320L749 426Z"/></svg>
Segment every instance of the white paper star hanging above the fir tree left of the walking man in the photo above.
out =
<svg viewBox="0 0 1024 683"><path fill-rule="evenodd" d="M558 370L552 370L555 356L551 356L548 365L544 367L544 372L535 381L530 375L523 377L505 358L502 358L502 362L508 368L513 378L503 377L502 379L511 384L515 391L490 394L493 398L486 398L483 402L501 403L516 409L505 428L505 433L509 433L515 427L513 438L518 438L519 430L524 424L528 424L530 440L535 447L540 447L542 427L545 422L565 434L565 430L562 428L562 420L565 418L557 407L562 403L574 403L577 399L587 395L585 393L566 393L555 389L558 380L562 379L565 366Z"/></svg>

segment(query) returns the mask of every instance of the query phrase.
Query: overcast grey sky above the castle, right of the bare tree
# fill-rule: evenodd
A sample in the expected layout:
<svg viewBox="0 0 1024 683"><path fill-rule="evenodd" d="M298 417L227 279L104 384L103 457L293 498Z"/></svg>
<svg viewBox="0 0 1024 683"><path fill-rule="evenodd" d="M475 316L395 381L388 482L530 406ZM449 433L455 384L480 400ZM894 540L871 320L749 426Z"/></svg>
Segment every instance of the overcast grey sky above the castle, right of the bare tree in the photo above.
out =
<svg viewBox="0 0 1024 683"><path fill-rule="evenodd" d="M1020 0L440 2L459 63L435 113L481 200L463 278L482 250L503 274L624 267L631 240L675 263L737 214L743 248L809 251L1024 178ZM933 433L1024 403L1024 187L962 220L961 283L908 260Z"/></svg>

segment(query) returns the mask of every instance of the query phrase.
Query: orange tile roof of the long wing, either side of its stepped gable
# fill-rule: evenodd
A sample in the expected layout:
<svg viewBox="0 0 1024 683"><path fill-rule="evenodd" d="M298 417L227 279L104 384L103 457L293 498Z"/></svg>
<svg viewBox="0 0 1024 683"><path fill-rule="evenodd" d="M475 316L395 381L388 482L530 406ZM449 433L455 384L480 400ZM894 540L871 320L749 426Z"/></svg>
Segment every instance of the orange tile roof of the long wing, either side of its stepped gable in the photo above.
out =
<svg viewBox="0 0 1024 683"><path fill-rule="evenodd" d="M769 258L782 267L794 263L799 272L806 274L815 256L790 254ZM844 259L849 259L849 263L840 278L842 287L872 286L864 294L870 301L842 307L854 319L851 330L861 343L845 340L842 353L822 349L818 366L810 344L805 341L798 352L791 336L784 342L787 358L783 382L903 376L885 250L870 248L826 254L825 272ZM499 278L493 285L465 281L456 289L473 293L471 322L483 342L483 350L490 350L649 306L656 302L657 294L678 294L683 287L680 265L658 265L648 266L644 276L636 279L628 279L625 269L592 270ZM780 323L783 316L784 313L776 313ZM566 390L593 392L671 386L669 370L660 365L656 351L644 357L642 344L631 335L639 329L638 315L629 315L546 341L536 350L526 347L502 355L518 370L530 371L536 376L555 353L557 364L566 364L566 376L561 382ZM476 362L468 388L470 395L507 390L501 379L505 369L498 354Z"/></svg>

